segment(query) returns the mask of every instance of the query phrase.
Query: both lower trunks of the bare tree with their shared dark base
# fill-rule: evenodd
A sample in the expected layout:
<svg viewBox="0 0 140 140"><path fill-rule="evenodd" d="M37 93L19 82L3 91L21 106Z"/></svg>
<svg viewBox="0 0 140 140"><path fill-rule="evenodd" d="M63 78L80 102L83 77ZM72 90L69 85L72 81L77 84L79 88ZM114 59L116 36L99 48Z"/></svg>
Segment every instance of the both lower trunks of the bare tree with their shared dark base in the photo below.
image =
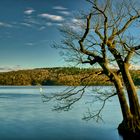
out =
<svg viewBox="0 0 140 140"><path fill-rule="evenodd" d="M119 125L118 130L122 136L129 134L140 136L140 105L138 102L135 85L129 73L128 66L125 63L119 63L119 61L118 64L120 67L123 81L118 75L111 72L107 65L101 65L104 73L110 78L111 81L113 81L117 90L117 95L123 115L123 121ZM126 100L126 95L122 83L124 83L126 87L129 98L129 105Z"/></svg>

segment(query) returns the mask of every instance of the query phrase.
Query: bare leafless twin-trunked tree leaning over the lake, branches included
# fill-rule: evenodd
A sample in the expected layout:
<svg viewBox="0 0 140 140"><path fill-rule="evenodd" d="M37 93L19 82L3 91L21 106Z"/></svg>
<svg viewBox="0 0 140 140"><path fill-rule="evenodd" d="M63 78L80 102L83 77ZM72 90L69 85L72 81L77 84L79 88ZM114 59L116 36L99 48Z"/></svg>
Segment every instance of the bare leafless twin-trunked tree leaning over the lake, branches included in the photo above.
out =
<svg viewBox="0 0 140 140"><path fill-rule="evenodd" d="M98 65L102 69L100 74L106 75L116 88L116 94L109 95L105 100L113 95L117 95L119 99L123 116L123 121L118 127L119 132L140 134L140 105L130 74L130 68L134 64L132 60L135 60L140 50L138 1L87 0L87 2L89 10L77 14L72 23L65 23L60 29L64 36L62 44L55 46L63 50L69 61ZM85 87L74 93L68 91L55 95L57 99L66 100L67 103L57 109L68 110L81 99L84 90ZM76 94L80 96L70 98Z"/></svg>

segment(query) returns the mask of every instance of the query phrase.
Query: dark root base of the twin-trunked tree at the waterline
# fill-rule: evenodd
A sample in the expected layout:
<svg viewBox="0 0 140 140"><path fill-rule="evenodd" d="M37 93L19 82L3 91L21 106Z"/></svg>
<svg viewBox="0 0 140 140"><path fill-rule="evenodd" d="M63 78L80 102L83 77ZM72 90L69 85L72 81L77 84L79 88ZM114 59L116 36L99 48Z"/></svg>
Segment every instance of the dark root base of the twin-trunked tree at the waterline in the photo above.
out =
<svg viewBox="0 0 140 140"><path fill-rule="evenodd" d="M131 119L130 121L122 121L118 127L119 134L123 140L139 140L140 139L140 120Z"/></svg>

